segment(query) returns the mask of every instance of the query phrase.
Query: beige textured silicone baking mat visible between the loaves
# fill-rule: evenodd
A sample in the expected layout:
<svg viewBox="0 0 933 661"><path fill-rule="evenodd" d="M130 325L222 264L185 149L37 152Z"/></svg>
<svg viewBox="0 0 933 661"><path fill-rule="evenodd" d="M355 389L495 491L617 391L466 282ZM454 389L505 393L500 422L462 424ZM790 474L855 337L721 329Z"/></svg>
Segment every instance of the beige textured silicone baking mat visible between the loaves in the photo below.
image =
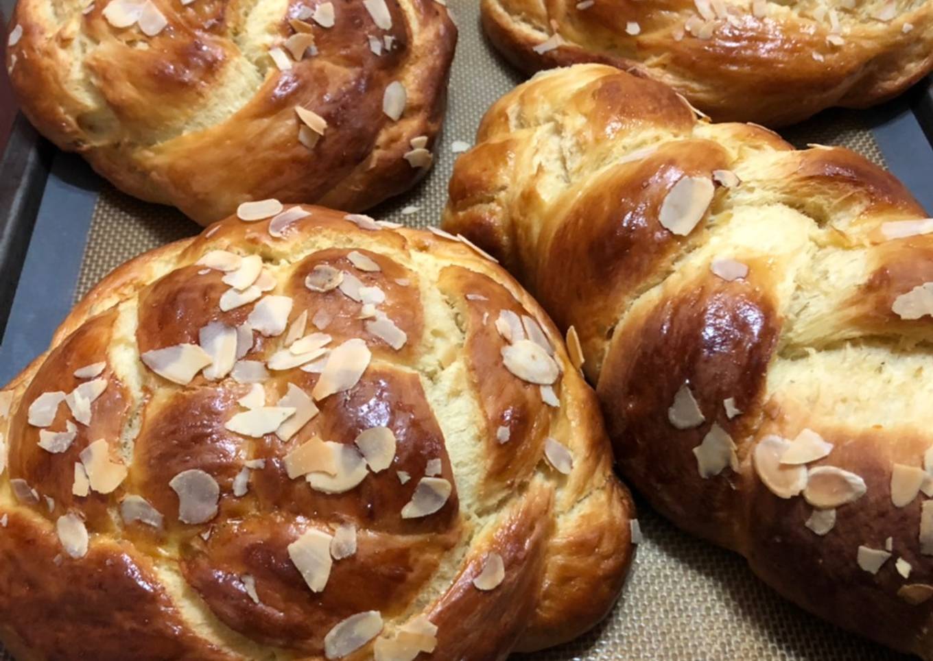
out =
<svg viewBox="0 0 933 661"><path fill-rule="evenodd" d="M476 0L449 0L449 5L460 27L460 41L436 165L410 194L372 212L376 217L413 226L437 223L455 158L451 144L471 142L485 109L521 81L483 40ZM882 162L870 132L854 113L833 111L785 135L799 145L846 145ZM401 210L410 205L418 211L403 215ZM174 210L104 187L77 296L132 255L197 231ZM759 583L742 558L675 530L644 504L639 511L645 543L613 613L582 639L522 656L523 661L903 658L815 620Z"/></svg>

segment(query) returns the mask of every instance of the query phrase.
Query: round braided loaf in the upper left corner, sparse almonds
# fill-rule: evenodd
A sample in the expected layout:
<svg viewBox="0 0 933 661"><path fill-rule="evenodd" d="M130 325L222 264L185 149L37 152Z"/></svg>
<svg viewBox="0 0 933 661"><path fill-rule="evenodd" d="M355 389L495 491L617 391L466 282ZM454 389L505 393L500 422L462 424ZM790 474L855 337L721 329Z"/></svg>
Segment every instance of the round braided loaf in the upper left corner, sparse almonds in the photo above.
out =
<svg viewBox="0 0 933 661"><path fill-rule="evenodd" d="M433 0L20 0L21 108L202 225L245 200L358 211L431 164L456 30Z"/></svg>

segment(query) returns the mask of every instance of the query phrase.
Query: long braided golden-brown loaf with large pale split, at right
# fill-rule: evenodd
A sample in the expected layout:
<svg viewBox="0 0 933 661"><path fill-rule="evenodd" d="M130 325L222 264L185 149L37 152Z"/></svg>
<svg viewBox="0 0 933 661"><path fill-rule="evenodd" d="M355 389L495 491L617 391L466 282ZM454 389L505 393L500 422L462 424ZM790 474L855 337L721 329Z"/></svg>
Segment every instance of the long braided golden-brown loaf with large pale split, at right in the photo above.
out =
<svg viewBox="0 0 933 661"><path fill-rule="evenodd" d="M496 103L450 194L445 227L574 326L661 513L933 658L933 220L897 180L585 64Z"/></svg>

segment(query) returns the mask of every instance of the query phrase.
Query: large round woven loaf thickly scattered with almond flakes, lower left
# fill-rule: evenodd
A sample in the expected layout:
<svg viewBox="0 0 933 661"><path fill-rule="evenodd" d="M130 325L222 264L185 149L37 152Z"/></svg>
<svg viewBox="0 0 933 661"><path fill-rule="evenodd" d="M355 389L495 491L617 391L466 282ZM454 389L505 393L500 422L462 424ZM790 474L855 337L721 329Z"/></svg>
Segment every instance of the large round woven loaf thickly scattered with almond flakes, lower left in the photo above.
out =
<svg viewBox="0 0 933 661"><path fill-rule="evenodd" d="M0 639L479 660L592 627L637 526L553 324L462 242L280 208L120 267L3 392Z"/></svg>

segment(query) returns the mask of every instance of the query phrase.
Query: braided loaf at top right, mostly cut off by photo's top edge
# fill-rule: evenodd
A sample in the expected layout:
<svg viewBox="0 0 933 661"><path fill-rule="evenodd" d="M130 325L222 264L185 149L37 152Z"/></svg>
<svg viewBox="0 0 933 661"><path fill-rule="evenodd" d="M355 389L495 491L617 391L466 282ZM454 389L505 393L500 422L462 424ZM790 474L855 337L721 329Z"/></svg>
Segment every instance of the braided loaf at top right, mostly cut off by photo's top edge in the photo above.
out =
<svg viewBox="0 0 933 661"><path fill-rule="evenodd" d="M496 48L526 72L605 62L717 120L777 126L883 102L933 69L929 0L481 0Z"/></svg>

